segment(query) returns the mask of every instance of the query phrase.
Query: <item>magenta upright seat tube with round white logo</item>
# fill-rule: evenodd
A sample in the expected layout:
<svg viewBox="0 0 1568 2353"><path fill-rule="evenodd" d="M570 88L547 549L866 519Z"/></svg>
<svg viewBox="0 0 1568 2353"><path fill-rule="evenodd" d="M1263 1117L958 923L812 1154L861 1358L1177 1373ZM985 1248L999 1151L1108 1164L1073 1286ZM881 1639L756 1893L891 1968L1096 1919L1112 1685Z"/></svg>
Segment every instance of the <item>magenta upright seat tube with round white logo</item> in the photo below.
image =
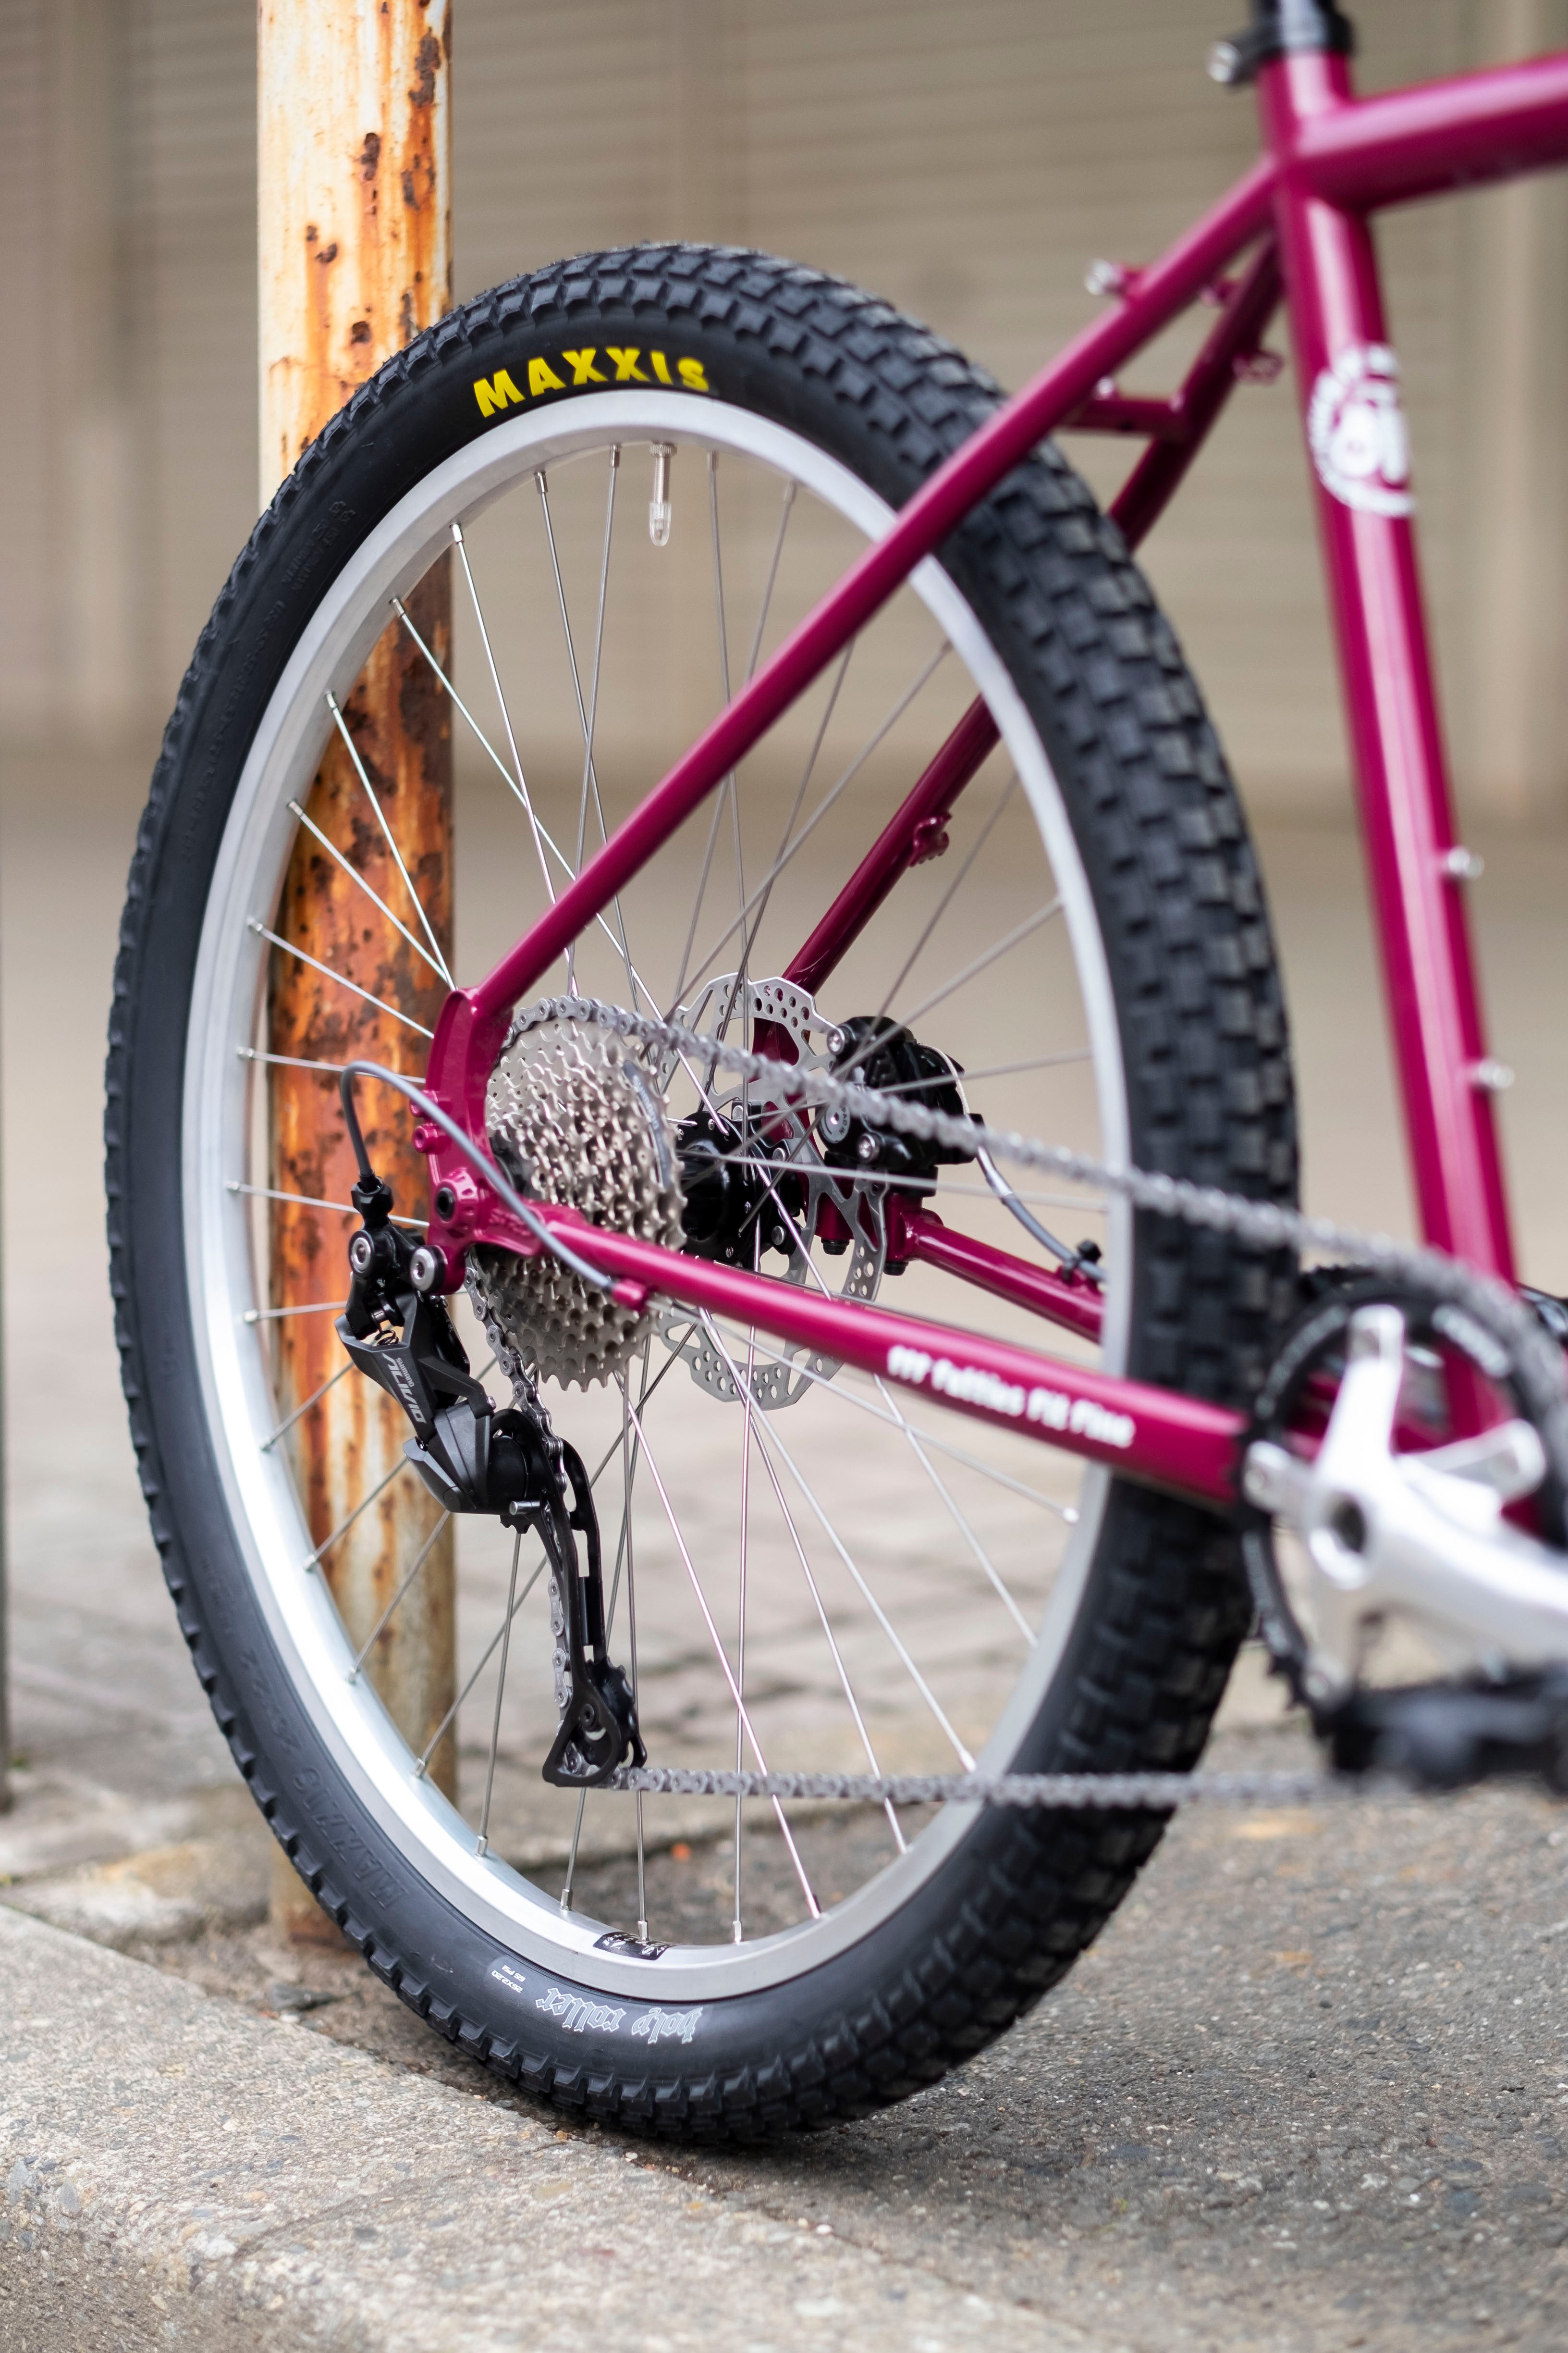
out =
<svg viewBox="0 0 1568 2353"><path fill-rule="evenodd" d="M1342 56L1260 73L1276 228L1422 1238L1512 1280L1481 1000L1422 612L1396 360L1363 216L1293 181Z"/></svg>

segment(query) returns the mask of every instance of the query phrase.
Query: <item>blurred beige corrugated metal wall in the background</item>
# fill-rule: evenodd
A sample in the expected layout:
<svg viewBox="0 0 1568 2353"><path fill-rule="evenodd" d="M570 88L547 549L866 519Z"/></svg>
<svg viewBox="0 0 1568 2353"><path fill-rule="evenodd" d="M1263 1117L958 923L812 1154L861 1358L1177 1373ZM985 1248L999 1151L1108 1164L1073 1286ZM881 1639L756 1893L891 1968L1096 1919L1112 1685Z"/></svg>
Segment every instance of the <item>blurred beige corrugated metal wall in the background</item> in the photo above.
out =
<svg viewBox="0 0 1568 2353"><path fill-rule="evenodd" d="M252 520L254 21L244 0L0 14L0 202L21 224L7 318L40 327L16 332L0 386L0 725L146 725ZM1093 254L1152 252L1246 165L1253 106L1201 71L1222 16L1218 0L458 0L458 292L595 242L712 235L844 271L1016 384L1088 313ZM1368 0L1359 26L1375 89L1568 42L1568 5ZM122 71L94 78L85 52ZM1521 807L1563 798L1568 739L1563 501L1540 471L1568 440L1566 242L1559 184L1385 226L1460 767ZM1502 412L1497 351L1519 379ZM1540 452L1523 487L1519 466L1497 473L1521 438ZM1121 452L1074 454L1110 487ZM1286 384L1239 393L1147 562L1248 791L1342 800ZM1523 689L1533 732L1509 748Z"/></svg>

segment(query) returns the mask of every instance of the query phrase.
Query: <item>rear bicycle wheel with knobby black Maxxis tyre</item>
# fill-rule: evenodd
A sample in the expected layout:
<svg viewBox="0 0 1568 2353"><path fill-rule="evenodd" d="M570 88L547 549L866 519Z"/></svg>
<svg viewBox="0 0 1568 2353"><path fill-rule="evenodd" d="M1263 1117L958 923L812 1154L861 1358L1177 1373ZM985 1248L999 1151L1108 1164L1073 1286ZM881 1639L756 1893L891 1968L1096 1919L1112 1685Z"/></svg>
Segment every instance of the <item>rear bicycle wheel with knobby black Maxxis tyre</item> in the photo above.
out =
<svg viewBox="0 0 1568 2353"><path fill-rule="evenodd" d="M202 1680L371 1967L545 2097L639 2129L757 2134L907 2094L1070 1967L1159 1824L545 1788L548 1579L531 1591L527 1548L388 1515L409 1473L383 1440L334 1459L322 1501L331 1402L310 1388L360 1379L331 1318L303 1313L343 1297L355 1224L334 1207L353 1174L334 1073L369 1054L421 1075L447 972L494 962L994 402L910 320L752 254L585 256L470 304L367 386L256 527L132 871L110 1240L143 1480ZM416 847L430 809L353 722L388 628L421 725L456 744L456 953L440 861ZM827 946L827 911L976 706L997 746ZM292 979L331 892L357 920L301 1014ZM564 986L703 1031L769 1021L799 1052L877 1052L875 1024L900 1024L896 1049L938 1061L898 1064L896 1085L961 1071L999 1127L1293 1191L1244 821L1168 626L1056 449L574 944ZM778 1162L755 1101L672 1056L637 1068L632 1096L658 1104L639 1125L602 1073L578 1085L550 1061L564 1052L524 1028L510 1054L543 1064L491 1085L498 1148L557 1200L630 1221L609 1141L635 1193L654 1181L637 1153L665 1136L661 1214L686 1247L1046 1344L1023 1306L922 1261L905 1212L1039 1268L1065 1231L1093 1242L1079 1282L1105 1365L1229 1402L1255 1379L1279 1268L1232 1240L1093 1195L1006 1202L973 1162L905 1165L889 1139L863 1153L820 1127ZM386 1134L397 1115L376 1111ZM303 1306L282 1285L299 1247L322 1268ZM1199 1755L1246 1621L1215 1520L759 1332L665 1308L607 1344L505 1261L475 1271L475 1297L597 1480L611 1649L656 1762ZM433 1699L404 1737L376 1642L425 1607L425 1560L454 1537L458 1706ZM334 1586L350 1541L376 1553L353 1593ZM378 1624L364 1591L386 1598Z"/></svg>

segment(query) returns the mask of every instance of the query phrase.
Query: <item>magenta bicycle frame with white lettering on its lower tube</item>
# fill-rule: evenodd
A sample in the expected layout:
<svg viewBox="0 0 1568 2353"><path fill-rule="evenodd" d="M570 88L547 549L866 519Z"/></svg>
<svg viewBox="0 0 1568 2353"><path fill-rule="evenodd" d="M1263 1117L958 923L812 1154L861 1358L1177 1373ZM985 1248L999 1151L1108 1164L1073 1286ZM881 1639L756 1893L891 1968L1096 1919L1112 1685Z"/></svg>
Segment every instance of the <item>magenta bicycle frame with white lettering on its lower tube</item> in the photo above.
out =
<svg viewBox="0 0 1568 2353"><path fill-rule="evenodd" d="M1281 299L1305 424L1324 372L1347 353L1385 344L1373 212L1568 162L1568 54L1378 99L1354 99L1345 56L1291 54L1260 68L1258 99L1262 160L1159 261L1121 273L1114 308L924 482L889 534L860 555L510 955L477 988L447 1000L428 1085L470 1134L484 1134L484 1085L512 1005L538 991L578 932L1037 442L1058 428L1147 440L1112 506L1135 544L1168 504L1237 376L1262 372L1260 339ZM1248 254L1241 273L1227 280L1225 271ZM1218 306L1218 322L1175 398L1117 393L1117 369L1201 296ZM1514 1280L1483 1085L1462 859L1450 856L1453 805L1413 525L1408 513L1345 504L1321 471L1316 511L1420 1231L1472 1266ZM802 946L792 979L818 988L905 868L933 854L954 800L992 744L990 713L976 704ZM430 1153L430 1240L444 1252L454 1287L473 1242L522 1254L538 1249L440 1129L423 1127L418 1144ZM882 1306L818 1299L795 1285L607 1233L574 1212L545 1217L616 1280L628 1301L658 1294L722 1313L1112 1464L1121 1475L1208 1504L1234 1499L1241 1419L1232 1412ZM952 1233L929 1212L903 1217L900 1249L1030 1306L1048 1322L1086 1337L1098 1329L1098 1297L1081 1278Z"/></svg>

